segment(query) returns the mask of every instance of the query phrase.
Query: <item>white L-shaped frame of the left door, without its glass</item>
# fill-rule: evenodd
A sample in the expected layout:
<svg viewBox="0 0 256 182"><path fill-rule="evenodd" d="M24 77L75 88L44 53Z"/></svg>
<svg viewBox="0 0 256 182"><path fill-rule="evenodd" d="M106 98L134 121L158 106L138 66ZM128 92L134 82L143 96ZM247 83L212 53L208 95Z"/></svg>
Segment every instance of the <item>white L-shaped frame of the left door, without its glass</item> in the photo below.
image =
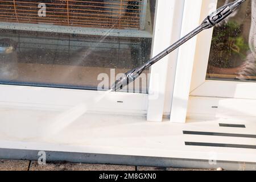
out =
<svg viewBox="0 0 256 182"><path fill-rule="evenodd" d="M156 55L177 39L174 35L178 35L179 28L176 28L174 25L179 24L182 17L177 18L176 14L178 11L176 11L176 7L179 8L179 11L182 11L182 5L183 1L180 0L156 1L152 55ZM171 100L166 104L165 98L166 93L172 90L172 88L166 85L172 85L167 84L167 76L170 72L168 61L173 61L173 58L174 55L167 56L151 68L150 94L113 92L106 95L102 100L97 101L97 104L94 106L90 106L92 98L102 96L103 92L0 85L0 105L56 110L74 107L82 103L89 105L90 112L147 114L148 121L162 121L164 111L170 110L167 107L171 104ZM171 72L174 72L174 70L175 68L172 68ZM159 97L155 98L156 94ZM167 97L171 97L171 95ZM164 107L165 104L167 105L166 107Z"/></svg>

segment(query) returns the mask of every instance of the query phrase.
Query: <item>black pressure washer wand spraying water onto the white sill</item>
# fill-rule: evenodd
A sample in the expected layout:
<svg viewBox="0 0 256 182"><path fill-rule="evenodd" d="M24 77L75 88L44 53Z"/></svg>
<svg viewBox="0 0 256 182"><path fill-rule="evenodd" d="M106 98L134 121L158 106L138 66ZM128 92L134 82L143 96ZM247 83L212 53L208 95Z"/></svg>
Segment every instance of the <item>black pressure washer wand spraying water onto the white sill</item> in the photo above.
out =
<svg viewBox="0 0 256 182"><path fill-rule="evenodd" d="M161 60L163 57L174 51L176 48L180 47L182 44L187 42L189 39L193 38L197 34L199 34L201 31L212 28L216 24L220 23L222 20L227 18L230 14L232 14L237 7L239 7L243 2L246 0L236 0L232 3L229 3L228 5L224 5L214 11L212 14L208 15L207 18L204 19L203 23L199 27L197 27L195 30L190 32L189 34L185 35L183 38L178 40L176 43L172 44L172 46L165 49L163 52L159 53L157 56L153 57L152 59L148 60L147 63L141 65L140 67L136 69L132 69L131 71L125 73L121 78L119 78L117 81L115 81L114 85L110 90L117 92L118 90L121 90L126 85L129 85L130 82L133 82L136 80L136 78L141 75L141 73L146 70L147 68L151 67L151 65L155 64L159 60Z"/></svg>

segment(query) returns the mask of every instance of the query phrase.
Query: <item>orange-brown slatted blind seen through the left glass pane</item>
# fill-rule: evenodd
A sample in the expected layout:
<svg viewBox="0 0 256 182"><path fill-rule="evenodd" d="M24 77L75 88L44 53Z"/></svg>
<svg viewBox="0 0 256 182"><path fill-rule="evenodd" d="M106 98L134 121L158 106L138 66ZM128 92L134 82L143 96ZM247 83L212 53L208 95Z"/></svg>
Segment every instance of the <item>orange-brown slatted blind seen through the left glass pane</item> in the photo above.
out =
<svg viewBox="0 0 256 182"><path fill-rule="evenodd" d="M0 1L0 21L16 23L46 23L59 26L139 29L142 0L46 0L46 16L38 0Z"/></svg>

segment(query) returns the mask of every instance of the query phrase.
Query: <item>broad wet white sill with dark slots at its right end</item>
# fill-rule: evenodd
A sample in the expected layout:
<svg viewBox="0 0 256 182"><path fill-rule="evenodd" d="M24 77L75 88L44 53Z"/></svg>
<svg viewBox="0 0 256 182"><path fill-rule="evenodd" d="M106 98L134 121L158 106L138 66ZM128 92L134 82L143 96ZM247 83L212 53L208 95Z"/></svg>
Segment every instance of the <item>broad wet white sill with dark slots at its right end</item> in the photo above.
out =
<svg viewBox="0 0 256 182"><path fill-rule="evenodd" d="M0 108L0 148L152 156L178 159L256 162L254 149L185 146L184 142L255 144L256 139L183 135L183 130L227 132L221 121L147 122L146 117L84 114L70 122L60 111L18 107ZM65 116L68 116L67 114ZM69 118L72 118L69 116ZM75 118L75 117L73 117ZM226 120L225 123L234 121ZM244 122L243 133L255 133L255 125ZM69 124L69 125L68 125ZM241 133L241 129L231 129Z"/></svg>

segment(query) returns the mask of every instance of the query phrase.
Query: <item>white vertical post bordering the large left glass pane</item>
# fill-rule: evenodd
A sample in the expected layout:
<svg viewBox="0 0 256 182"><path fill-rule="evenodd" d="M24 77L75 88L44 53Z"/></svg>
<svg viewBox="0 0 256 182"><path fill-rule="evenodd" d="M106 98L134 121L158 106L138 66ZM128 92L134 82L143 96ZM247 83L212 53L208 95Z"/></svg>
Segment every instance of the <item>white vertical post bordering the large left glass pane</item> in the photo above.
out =
<svg viewBox="0 0 256 182"><path fill-rule="evenodd" d="M179 39L184 0L157 1L152 56L158 55ZM177 52L176 52L177 53ZM166 101L166 81L170 71L175 71L175 52L164 57L151 68L148 94L147 120L160 122L163 119ZM173 82L168 83L173 84ZM168 100L170 101L170 100Z"/></svg>

